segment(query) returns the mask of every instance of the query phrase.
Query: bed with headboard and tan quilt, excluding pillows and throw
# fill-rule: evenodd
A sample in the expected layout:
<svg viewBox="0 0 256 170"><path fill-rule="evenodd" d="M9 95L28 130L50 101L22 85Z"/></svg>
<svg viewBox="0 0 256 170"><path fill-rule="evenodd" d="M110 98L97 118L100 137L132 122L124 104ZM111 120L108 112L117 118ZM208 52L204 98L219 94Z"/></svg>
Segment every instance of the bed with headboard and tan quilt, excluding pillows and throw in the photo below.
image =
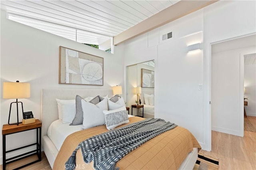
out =
<svg viewBox="0 0 256 170"><path fill-rule="evenodd" d="M85 98L88 96L106 96L109 97L112 96L112 90L111 89L43 89L42 90L42 147L46 154L46 157L48 159L48 162L50 163L51 168L53 169L64 169L64 163L68 159L68 157L72 154L72 151L76 148L76 146L85 138L88 138L90 136L93 136L95 134L99 134L105 131L108 131L106 129L106 125L101 125L93 128L88 128L86 130L80 130L81 128L79 125L73 126L72 129L67 126L60 123L58 120L58 107L56 104L56 98L57 99L63 99L63 100L69 100L74 99L76 95L80 95L81 97ZM140 117L129 117L130 123L141 121L143 118ZM54 124L52 124L54 122ZM54 133L54 126L59 127L58 130L56 130ZM121 125L125 126L125 125ZM154 155L154 159L159 160L159 158L163 157L164 154L166 154L166 146L161 145L158 146L157 143L163 143L167 140L168 136L170 136L169 133L174 133L178 135L178 141L181 140L181 138L184 138L184 136L179 136L180 133L183 131L186 132L186 135L191 137L192 140L190 141L190 144L182 153L178 153L175 155L169 154L167 157L174 156L175 162L172 166L177 166L174 169L192 169L198 154L198 148L200 149L200 145L194 138L188 130L182 127L176 127L174 128L176 131L169 130L168 132L164 132L163 134L160 134L156 136L155 138L152 138L142 146L138 147L137 149L133 150L132 152L128 153L124 158L122 158L118 163L116 164L120 169L131 169L133 167L136 169L141 169L140 165L142 162L145 163L144 168L146 167L154 167L151 165L154 161L151 161L150 158L147 158L146 151L152 152L150 155ZM62 132L65 133L62 133ZM59 136L57 136L58 134ZM51 136L52 135L52 136ZM54 137L55 138L54 138ZM74 140L76 139L76 140ZM63 141L64 140L64 141ZM56 144L56 141L59 143ZM63 141L63 142L62 142ZM62 144L63 143L63 144ZM154 150L159 150L161 147L163 147L162 152L153 152ZM172 148L174 152L177 152L175 148ZM165 150L165 151L164 151ZM181 156L181 154L184 154L185 156ZM144 155L144 156L143 156ZM80 151L76 154L76 163L80 165L80 167L77 168L86 168L86 169L92 169L92 164L85 164L82 160L82 154ZM165 157L165 156L164 156ZM180 157L180 158L179 158ZM55 162L55 163L54 163ZM132 162L128 165L128 162ZM156 164L159 164L161 161L156 161ZM168 161L167 161L168 164ZM166 169L166 163L159 164L159 168L165 168ZM172 166L169 166L172 167ZM155 167L156 168L156 167Z"/></svg>

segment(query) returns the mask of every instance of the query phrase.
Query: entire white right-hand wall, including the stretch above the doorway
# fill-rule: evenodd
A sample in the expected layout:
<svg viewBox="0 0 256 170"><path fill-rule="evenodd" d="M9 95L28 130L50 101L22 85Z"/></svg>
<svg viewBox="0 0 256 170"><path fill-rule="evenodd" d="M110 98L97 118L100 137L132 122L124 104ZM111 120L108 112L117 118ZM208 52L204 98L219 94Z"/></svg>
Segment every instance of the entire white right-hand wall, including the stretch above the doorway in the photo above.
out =
<svg viewBox="0 0 256 170"><path fill-rule="evenodd" d="M210 44L254 33L255 13L255 1L219 1L124 43L125 66L155 59L155 117L188 128L204 150L211 149ZM198 42L203 50L186 53Z"/></svg>

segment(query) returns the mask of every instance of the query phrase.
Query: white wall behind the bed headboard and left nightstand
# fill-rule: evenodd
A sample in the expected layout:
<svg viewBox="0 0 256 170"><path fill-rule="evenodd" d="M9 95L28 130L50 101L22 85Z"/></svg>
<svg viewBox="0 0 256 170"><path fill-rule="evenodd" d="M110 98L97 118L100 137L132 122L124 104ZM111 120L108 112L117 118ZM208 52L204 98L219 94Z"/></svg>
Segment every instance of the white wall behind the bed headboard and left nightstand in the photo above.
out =
<svg viewBox="0 0 256 170"><path fill-rule="evenodd" d="M68 47L99 57L104 57L104 85L64 85L58 84L59 46ZM122 45L116 49L122 48ZM122 51L121 49L118 51ZM124 65L121 53L110 54L102 50L73 42L71 40L7 20L6 13L1 10L1 83L4 81L29 82L31 97L19 99L23 102L24 111L32 111L36 119L40 119L41 90L45 88L111 88L114 85L124 86ZM114 75L114 76L113 76ZM74 96L75 97L75 96ZM8 123L10 103L15 99L2 99L0 123ZM15 107L13 108L15 111ZM13 114L14 116L15 114ZM20 114L20 121L22 115ZM15 119L14 119L15 120ZM14 122L14 121L13 121ZM24 146L35 141L35 132L22 132L6 136L7 150ZM2 135L0 138L2 146ZM2 162L2 147L0 147ZM23 151L22 151L23 152ZM17 155L17 153L14 153Z"/></svg>

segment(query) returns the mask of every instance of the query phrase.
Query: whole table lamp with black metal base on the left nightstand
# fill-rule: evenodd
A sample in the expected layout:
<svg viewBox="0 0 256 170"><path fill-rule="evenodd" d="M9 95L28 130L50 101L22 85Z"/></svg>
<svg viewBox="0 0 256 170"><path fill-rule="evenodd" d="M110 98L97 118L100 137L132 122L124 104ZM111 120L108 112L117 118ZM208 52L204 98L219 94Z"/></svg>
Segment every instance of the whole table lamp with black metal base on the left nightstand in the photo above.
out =
<svg viewBox="0 0 256 170"><path fill-rule="evenodd" d="M16 82L4 82L3 83L3 99L16 99L16 102L12 102L10 104L10 111L9 111L9 118L8 118L8 124L19 125L19 111L18 111L18 103L21 104L22 113L23 113L23 104L22 102L18 101L18 99L25 99L30 97L30 83L20 83L19 81ZM12 104L16 103L17 107L17 123L10 124L10 115L11 115L11 109Z"/></svg>

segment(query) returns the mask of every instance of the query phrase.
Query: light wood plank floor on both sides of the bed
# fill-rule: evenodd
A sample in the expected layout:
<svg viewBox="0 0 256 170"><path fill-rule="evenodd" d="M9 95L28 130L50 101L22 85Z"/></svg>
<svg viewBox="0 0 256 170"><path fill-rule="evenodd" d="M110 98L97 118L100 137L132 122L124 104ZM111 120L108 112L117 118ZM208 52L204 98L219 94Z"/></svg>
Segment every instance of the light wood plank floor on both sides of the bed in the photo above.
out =
<svg viewBox="0 0 256 170"><path fill-rule="evenodd" d="M256 127L256 117L248 116L247 118ZM200 150L200 152L218 158L220 170L256 170L256 132L244 131L244 137L239 137L212 131L212 151ZM14 169L36 159L37 156L31 156L7 164L6 170ZM2 170L2 165L0 170ZM51 170L51 167L42 152L41 162L26 166L22 170Z"/></svg>

